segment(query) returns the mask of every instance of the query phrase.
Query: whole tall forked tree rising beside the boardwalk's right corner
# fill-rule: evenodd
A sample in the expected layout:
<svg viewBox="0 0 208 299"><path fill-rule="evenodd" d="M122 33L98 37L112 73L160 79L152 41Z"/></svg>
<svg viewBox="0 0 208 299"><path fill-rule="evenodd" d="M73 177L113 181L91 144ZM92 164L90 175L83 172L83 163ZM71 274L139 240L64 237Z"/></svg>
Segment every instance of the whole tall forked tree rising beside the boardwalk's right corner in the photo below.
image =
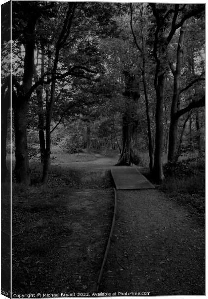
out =
<svg viewBox="0 0 208 299"><path fill-rule="evenodd" d="M162 153L163 153L163 106L164 106L164 84L168 70L167 49L175 32L190 17L201 13L204 5L186 4L166 5L149 4L152 8L156 21L154 32L153 55L156 62L154 86L156 92L156 114L155 114L155 155L153 166L153 178L156 182L161 182L164 178ZM170 9L168 9L170 8ZM168 29L167 29L168 28Z"/></svg>

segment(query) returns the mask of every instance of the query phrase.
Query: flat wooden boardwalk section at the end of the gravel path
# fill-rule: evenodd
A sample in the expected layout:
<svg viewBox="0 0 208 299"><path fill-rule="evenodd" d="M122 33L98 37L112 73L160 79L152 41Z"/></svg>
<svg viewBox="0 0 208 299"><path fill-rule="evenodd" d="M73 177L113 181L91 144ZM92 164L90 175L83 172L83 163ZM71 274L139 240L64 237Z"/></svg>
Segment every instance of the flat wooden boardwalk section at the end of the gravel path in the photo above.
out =
<svg viewBox="0 0 208 299"><path fill-rule="evenodd" d="M154 189L136 167L117 166L111 169L116 190Z"/></svg>

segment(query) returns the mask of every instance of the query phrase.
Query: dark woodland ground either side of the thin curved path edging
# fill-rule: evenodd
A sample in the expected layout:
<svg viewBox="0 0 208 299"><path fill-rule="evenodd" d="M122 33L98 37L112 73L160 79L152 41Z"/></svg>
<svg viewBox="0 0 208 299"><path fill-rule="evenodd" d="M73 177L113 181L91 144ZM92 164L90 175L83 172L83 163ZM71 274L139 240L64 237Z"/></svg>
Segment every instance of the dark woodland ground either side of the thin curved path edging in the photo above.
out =
<svg viewBox="0 0 208 299"><path fill-rule="evenodd" d="M36 162L31 187L13 184L15 293L95 291L113 215L110 168L116 159L54 155L47 189L39 183ZM167 186L163 191L117 191L100 292L204 294L202 211L198 217L176 194L173 200Z"/></svg>

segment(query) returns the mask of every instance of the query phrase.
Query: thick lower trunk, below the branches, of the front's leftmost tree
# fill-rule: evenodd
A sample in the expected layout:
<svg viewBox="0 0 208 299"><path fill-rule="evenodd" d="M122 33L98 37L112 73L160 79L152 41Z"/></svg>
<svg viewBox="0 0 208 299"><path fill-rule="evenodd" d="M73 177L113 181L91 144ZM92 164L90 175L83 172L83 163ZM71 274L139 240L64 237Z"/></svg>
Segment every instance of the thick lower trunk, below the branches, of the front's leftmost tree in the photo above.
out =
<svg viewBox="0 0 208 299"><path fill-rule="evenodd" d="M20 101L18 98L17 101ZM21 100L20 105L14 105L15 157L14 174L17 183L30 184L29 157L27 147L27 109L28 101Z"/></svg>

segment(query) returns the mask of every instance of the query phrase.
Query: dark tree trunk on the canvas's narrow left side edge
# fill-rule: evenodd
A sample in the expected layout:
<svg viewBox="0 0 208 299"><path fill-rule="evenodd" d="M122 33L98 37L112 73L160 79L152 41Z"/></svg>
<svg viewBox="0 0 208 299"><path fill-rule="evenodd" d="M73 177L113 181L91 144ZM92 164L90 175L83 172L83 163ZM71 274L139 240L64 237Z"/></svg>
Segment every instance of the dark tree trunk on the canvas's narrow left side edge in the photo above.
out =
<svg viewBox="0 0 208 299"><path fill-rule="evenodd" d="M10 107L10 84L1 88L1 182L5 182L8 174L6 166L7 119ZM6 87L8 91L5 92Z"/></svg>

